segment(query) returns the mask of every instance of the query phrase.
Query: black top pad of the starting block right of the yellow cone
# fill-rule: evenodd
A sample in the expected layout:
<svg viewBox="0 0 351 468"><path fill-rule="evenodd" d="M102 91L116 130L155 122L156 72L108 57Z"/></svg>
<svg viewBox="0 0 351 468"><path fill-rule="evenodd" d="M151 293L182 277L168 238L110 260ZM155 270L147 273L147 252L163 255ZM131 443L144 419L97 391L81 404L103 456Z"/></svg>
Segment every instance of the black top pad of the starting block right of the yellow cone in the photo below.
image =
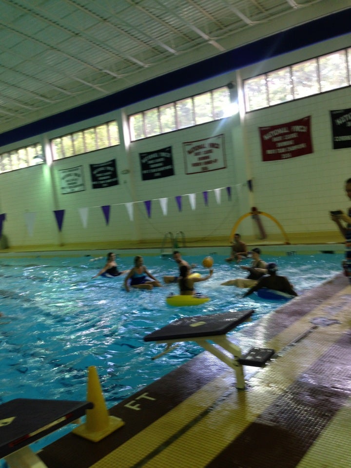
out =
<svg viewBox="0 0 351 468"><path fill-rule="evenodd" d="M224 335L248 320L254 310L213 313L183 317L166 325L160 330L144 336L144 341L164 341L200 338L202 336Z"/></svg>

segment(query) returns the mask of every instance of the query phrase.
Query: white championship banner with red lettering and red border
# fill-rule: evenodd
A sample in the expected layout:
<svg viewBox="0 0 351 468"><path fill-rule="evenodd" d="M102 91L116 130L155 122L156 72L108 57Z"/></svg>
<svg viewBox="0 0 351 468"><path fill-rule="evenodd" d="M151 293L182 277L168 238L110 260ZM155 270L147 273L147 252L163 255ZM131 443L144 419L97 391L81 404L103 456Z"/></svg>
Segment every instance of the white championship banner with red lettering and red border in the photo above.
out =
<svg viewBox="0 0 351 468"><path fill-rule="evenodd" d="M227 167L224 135L183 143L185 174L216 171Z"/></svg>

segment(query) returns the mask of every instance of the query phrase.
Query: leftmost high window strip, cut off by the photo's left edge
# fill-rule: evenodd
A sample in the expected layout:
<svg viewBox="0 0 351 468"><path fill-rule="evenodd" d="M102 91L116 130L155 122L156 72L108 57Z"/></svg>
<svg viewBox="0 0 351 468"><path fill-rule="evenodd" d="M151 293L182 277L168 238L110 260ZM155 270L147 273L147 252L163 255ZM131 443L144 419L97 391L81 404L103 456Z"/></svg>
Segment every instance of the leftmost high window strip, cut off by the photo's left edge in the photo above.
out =
<svg viewBox="0 0 351 468"><path fill-rule="evenodd" d="M0 173L36 166L45 162L40 143L18 148L0 155Z"/></svg>

